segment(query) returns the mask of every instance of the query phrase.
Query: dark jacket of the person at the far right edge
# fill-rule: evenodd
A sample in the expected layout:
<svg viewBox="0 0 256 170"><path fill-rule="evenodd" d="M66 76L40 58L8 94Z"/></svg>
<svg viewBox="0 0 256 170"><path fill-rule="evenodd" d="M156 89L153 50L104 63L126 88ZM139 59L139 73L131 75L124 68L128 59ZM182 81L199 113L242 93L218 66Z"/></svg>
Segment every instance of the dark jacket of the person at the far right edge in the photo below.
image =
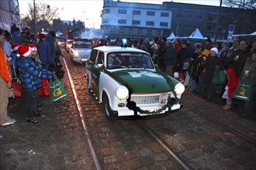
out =
<svg viewBox="0 0 256 170"><path fill-rule="evenodd" d="M239 77L239 80L242 80L244 77L245 70L249 71L247 80L256 85L256 61L252 61L251 57L248 57L244 63L244 69Z"/></svg>

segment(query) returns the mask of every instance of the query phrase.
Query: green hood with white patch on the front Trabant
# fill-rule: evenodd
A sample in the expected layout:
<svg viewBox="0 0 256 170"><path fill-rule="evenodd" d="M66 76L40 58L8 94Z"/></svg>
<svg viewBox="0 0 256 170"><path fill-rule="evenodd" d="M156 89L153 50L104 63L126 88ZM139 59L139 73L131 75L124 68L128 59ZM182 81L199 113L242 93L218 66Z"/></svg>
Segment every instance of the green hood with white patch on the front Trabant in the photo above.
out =
<svg viewBox="0 0 256 170"><path fill-rule="evenodd" d="M119 70L112 74L126 83L123 85L129 87L133 93L161 93L171 90L164 76L152 70ZM173 85L178 83L177 80L171 80Z"/></svg>

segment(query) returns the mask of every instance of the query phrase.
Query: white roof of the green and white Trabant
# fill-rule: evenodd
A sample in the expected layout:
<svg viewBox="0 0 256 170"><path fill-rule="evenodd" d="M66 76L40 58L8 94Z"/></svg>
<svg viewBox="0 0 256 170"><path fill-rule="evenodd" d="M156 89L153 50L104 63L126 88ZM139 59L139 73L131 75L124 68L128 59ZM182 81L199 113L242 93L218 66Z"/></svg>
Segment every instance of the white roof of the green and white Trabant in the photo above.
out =
<svg viewBox="0 0 256 170"><path fill-rule="evenodd" d="M99 47L95 47L93 49L97 49L99 51L102 51L103 53L111 53L111 52L147 53L141 49L136 49L136 48L132 48L132 47L121 47L121 46L99 46Z"/></svg>

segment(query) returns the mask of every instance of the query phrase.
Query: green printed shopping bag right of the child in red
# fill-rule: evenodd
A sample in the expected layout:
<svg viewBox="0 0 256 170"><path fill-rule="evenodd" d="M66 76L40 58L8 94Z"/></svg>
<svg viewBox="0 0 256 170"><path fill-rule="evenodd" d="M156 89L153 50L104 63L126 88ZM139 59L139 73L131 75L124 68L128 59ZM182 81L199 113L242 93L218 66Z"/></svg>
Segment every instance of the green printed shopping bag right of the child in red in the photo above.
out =
<svg viewBox="0 0 256 170"><path fill-rule="evenodd" d="M251 83L245 80L244 78L238 83L237 89L233 94L234 99L238 100L250 100L250 93L251 93Z"/></svg>

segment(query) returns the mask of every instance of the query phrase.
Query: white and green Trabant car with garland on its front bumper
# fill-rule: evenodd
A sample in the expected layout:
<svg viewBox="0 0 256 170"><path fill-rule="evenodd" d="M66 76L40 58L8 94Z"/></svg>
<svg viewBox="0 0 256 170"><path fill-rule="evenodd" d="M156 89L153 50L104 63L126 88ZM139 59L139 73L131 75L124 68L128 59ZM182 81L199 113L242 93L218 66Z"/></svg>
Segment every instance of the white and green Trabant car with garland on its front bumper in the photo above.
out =
<svg viewBox="0 0 256 170"><path fill-rule="evenodd" d="M100 46L86 62L88 89L105 106L107 117L164 114L182 107L182 83L161 73L149 53Z"/></svg>

